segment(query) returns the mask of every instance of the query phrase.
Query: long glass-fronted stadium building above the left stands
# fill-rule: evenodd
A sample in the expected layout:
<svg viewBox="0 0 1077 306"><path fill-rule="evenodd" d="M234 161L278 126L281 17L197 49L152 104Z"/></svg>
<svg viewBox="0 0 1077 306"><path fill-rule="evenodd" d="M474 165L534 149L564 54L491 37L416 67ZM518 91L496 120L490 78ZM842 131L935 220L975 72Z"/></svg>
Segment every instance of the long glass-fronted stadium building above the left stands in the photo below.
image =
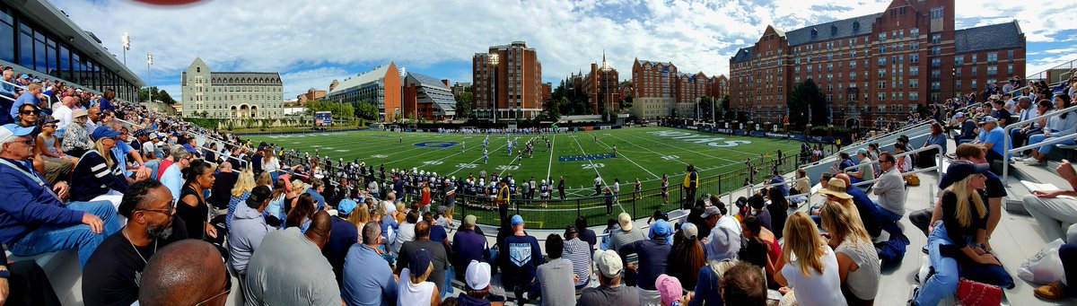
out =
<svg viewBox="0 0 1077 306"><path fill-rule="evenodd" d="M136 62L144 57L132 55ZM51 1L0 1L0 65L95 94L138 101L138 75Z"/></svg>

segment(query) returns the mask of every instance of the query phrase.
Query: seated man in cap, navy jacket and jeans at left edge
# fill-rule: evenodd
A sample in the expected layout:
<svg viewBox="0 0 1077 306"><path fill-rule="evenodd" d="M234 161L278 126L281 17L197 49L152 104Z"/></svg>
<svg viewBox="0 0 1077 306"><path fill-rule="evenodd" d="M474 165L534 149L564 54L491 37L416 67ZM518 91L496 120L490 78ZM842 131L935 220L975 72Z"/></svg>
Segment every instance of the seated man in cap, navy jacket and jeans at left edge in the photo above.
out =
<svg viewBox="0 0 1077 306"><path fill-rule="evenodd" d="M116 209L108 201L65 206L60 199L68 184L46 185L28 163L34 142L30 131L15 124L0 127L0 190L8 196L0 206L0 241L18 256L78 248L85 266L104 237L120 231Z"/></svg>

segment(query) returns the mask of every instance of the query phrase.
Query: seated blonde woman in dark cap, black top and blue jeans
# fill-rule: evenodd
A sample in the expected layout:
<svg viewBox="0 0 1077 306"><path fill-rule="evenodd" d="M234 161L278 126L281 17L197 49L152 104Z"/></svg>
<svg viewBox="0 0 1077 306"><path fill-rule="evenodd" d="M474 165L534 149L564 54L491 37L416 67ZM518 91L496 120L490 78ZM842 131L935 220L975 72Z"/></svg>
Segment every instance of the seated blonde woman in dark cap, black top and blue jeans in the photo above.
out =
<svg viewBox="0 0 1077 306"><path fill-rule="evenodd" d="M953 182L941 196L942 220L934 224L927 250L934 274L913 292L913 305L938 305L957 292L959 277L1006 289L1013 278L991 254L988 214L980 191L987 189L989 165L956 161L947 168L945 180ZM997 213L997 212L996 212Z"/></svg>

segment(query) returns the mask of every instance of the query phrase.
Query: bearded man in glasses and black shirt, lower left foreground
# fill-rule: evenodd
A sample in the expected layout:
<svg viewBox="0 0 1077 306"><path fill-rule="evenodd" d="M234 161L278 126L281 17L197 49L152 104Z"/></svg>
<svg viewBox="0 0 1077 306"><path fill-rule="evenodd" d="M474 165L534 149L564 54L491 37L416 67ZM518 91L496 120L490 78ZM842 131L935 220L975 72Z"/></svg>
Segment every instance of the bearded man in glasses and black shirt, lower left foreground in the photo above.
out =
<svg viewBox="0 0 1077 306"><path fill-rule="evenodd" d="M172 194L156 180L131 184L120 203L127 225L101 242L83 269L86 305L130 305L138 301L149 260L170 242L187 237L183 219L173 218Z"/></svg>

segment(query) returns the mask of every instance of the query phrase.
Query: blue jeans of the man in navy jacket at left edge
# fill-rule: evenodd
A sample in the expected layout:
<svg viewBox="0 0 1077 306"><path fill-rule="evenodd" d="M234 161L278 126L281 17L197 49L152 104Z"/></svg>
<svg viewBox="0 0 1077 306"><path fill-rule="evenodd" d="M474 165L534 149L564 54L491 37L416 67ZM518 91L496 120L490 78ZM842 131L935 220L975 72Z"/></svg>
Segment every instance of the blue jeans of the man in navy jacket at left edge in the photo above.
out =
<svg viewBox="0 0 1077 306"><path fill-rule="evenodd" d="M32 256L78 248L79 264L81 267L85 267L86 261L97 250L97 246L101 245L104 238L120 232L121 226L116 221L116 209L108 200L73 201L68 204L67 208L100 217L104 224L101 234L94 234L89 225L86 224L68 226L44 225L30 232L23 239L8 246L8 249L12 254L18 256Z"/></svg>

